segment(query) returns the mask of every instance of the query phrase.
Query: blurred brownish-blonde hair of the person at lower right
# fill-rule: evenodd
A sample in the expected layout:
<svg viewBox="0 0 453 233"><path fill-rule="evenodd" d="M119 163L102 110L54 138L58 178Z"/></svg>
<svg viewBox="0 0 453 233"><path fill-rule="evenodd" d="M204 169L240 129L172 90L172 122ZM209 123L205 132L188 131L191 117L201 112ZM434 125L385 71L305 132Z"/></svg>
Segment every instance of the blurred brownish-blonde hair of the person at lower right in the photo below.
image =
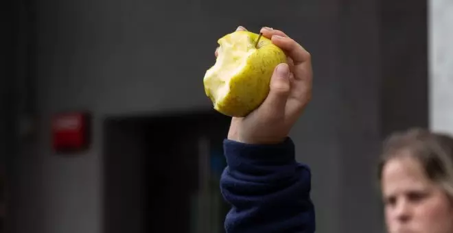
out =
<svg viewBox="0 0 453 233"><path fill-rule="evenodd" d="M400 153L406 150L410 152L409 156L420 162L426 176L453 199L453 138L419 128L392 134L384 141L378 166L379 180L386 162L406 156Z"/></svg>

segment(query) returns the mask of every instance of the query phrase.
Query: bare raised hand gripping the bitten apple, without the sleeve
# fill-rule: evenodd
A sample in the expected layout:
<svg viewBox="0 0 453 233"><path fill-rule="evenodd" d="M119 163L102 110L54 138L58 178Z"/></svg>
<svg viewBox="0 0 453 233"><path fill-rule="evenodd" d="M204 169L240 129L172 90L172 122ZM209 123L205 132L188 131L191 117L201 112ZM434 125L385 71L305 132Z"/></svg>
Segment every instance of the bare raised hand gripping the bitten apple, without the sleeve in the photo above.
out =
<svg viewBox="0 0 453 233"><path fill-rule="evenodd" d="M312 97L311 56L279 30L264 27L260 32L288 58L275 67L266 99L246 116L231 119L228 138L248 144L281 143Z"/></svg>

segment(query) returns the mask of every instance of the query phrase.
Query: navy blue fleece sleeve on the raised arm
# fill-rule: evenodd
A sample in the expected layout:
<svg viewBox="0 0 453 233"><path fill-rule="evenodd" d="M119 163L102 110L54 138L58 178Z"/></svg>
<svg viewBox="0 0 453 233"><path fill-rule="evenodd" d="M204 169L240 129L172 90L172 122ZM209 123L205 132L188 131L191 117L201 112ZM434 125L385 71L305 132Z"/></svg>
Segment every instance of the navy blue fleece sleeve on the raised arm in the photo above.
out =
<svg viewBox="0 0 453 233"><path fill-rule="evenodd" d="M290 138L278 145L224 140L224 154L220 189L232 206L227 233L314 232L310 169L296 162Z"/></svg>

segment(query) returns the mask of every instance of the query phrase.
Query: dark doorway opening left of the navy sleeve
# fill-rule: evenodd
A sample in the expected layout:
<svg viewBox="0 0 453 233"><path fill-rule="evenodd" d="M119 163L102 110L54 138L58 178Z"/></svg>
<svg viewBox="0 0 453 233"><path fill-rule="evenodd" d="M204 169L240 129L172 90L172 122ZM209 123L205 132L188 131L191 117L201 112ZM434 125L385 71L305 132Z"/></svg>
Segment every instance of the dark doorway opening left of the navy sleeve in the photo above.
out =
<svg viewBox="0 0 453 233"><path fill-rule="evenodd" d="M105 232L224 232L229 121L213 111L106 119Z"/></svg>

